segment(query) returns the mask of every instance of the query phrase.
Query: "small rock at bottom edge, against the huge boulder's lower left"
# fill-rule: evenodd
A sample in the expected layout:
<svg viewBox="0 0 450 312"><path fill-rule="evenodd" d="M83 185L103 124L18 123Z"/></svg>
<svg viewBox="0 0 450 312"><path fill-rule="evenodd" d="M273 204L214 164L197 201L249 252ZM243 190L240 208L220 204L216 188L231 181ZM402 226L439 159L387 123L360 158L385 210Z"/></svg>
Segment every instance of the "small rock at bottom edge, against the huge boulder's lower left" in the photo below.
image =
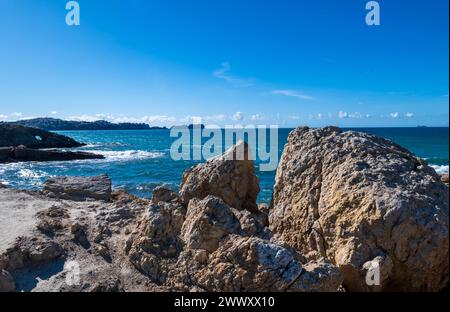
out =
<svg viewBox="0 0 450 312"><path fill-rule="evenodd" d="M303 272L289 291L336 292L343 278L339 269L326 260L311 261L303 265Z"/></svg>

